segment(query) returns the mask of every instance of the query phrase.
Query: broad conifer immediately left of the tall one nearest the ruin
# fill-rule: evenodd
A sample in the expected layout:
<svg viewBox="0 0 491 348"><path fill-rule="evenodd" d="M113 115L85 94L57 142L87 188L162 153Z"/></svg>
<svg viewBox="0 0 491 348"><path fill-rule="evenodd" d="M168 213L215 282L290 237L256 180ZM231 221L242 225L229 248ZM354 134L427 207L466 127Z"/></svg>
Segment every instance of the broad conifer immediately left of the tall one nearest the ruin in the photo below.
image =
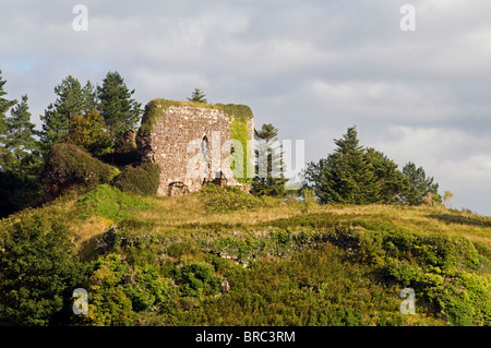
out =
<svg viewBox="0 0 491 348"><path fill-rule="evenodd" d="M82 87L77 79L69 75L55 87L55 93L57 100L40 116L44 122L41 144L45 154L68 134L75 115L85 115L95 107L94 86L89 81Z"/></svg>

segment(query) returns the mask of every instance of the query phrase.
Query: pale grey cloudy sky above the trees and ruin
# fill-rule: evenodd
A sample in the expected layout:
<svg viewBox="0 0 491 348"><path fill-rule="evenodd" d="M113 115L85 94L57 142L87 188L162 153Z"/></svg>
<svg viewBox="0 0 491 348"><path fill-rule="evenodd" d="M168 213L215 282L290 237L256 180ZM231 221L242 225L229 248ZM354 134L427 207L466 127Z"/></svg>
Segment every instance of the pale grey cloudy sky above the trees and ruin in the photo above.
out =
<svg viewBox="0 0 491 348"><path fill-rule="evenodd" d="M87 31L72 10L87 8ZM416 9L404 32L403 4ZM1 0L0 70L33 121L71 74L118 71L135 98L247 104L304 140L306 160L357 125L364 146L422 166L456 208L491 216L489 0Z"/></svg>

